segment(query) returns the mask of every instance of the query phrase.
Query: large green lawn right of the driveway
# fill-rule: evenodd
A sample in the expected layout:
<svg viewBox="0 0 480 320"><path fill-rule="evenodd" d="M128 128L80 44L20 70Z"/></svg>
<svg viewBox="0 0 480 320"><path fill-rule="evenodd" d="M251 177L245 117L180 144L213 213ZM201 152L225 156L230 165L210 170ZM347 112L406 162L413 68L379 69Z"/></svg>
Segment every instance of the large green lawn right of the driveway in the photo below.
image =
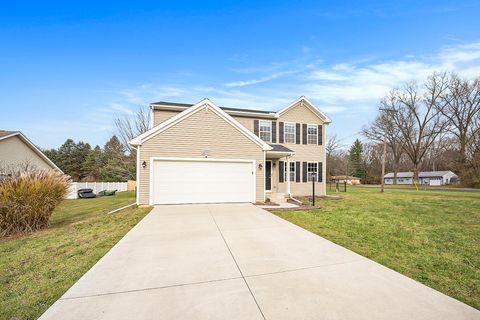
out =
<svg viewBox="0 0 480 320"><path fill-rule="evenodd" d="M480 193L350 188L275 214L480 309Z"/></svg>

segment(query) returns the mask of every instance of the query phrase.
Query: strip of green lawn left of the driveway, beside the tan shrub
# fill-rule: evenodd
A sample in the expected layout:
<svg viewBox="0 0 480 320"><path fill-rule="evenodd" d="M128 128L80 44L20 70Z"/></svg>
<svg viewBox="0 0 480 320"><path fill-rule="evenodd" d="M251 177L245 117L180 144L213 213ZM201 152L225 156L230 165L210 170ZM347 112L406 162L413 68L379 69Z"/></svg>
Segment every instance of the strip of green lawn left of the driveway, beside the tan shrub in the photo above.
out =
<svg viewBox="0 0 480 320"><path fill-rule="evenodd" d="M132 192L65 200L48 229L0 240L0 319L37 319L151 209Z"/></svg>

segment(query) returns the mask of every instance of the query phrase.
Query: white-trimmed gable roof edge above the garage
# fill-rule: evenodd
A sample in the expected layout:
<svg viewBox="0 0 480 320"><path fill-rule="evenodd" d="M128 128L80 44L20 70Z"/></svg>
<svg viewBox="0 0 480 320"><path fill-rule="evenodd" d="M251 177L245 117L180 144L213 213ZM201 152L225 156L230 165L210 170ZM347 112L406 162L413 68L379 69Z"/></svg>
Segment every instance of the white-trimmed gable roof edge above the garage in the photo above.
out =
<svg viewBox="0 0 480 320"><path fill-rule="evenodd" d="M261 140L253 132L251 132L250 130L245 128L237 120L232 118L229 114L227 114L224 110L219 108L217 105L215 105L212 101L210 101L207 98L205 98L202 101L188 107L187 109L185 109L182 112L176 114L172 118L160 123L159 125L153 127L152 129L148 130L147 132L142 133L138 137L132 139L130 141L130 144L133 145L133 146L142 145L145 141L151 139L155 135L165 131L166 129L170 128L171 126L173 126L173 125L179 123L180 121L192 116L197 111L202 110L204 108L209 108L210 110L215 112L218 116L220 116L220 118L222 118L227 123L232 125L238 131L240 131L242 134L244 134L247 138L249 138L250 140L255 142L263 150L271 150L272 149L272 147L270 145L268 145L266 142Z"/></svg>

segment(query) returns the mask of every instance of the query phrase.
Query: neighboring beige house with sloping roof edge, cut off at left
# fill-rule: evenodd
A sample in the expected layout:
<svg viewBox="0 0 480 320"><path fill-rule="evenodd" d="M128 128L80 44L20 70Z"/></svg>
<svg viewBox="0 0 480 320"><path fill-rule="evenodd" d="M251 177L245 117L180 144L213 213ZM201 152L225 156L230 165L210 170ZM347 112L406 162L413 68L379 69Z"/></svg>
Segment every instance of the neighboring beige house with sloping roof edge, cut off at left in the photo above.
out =
<svg viewBox="0 0 480 320"><path fill-rule="evenodd" d="M61 171L20 131L0 130L0 171L25 166Z"/></svg>

